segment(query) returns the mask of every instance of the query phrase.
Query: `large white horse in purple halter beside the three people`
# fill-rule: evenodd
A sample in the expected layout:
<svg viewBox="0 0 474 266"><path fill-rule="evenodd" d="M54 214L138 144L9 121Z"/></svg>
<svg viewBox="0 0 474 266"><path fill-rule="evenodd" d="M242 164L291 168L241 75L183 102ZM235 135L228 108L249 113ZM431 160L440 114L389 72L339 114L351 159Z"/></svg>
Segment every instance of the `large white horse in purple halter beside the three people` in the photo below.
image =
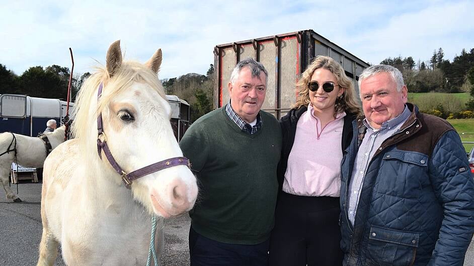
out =
<svg viewBox="0 0 474 266"><path fill-rule="evenodd" d="M67 265L145 265L150 215L170 217L193 207L197 185L188 165L146 174L131 181L131 189L122 183L128 184L134 170L183 156L156 76L161 61L159 49L145 65L122 62L116 41L107 52L106 68L81 88L72 124L75 139L59 145L44 165L38 265L54 263L58 242ZM107 142L114 166L105 148L98 155L98 139ZM116 166L123 169L123 178ZM163 219L159 222L157 253L164 239Z"/></svg>

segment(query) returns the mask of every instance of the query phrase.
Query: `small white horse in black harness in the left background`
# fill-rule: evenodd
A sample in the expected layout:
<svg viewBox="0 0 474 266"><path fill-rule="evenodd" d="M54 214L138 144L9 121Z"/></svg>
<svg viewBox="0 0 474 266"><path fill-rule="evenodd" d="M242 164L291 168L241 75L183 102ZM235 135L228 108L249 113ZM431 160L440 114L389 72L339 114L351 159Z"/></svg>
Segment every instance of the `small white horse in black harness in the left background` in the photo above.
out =
<svg viewBox="0 0 474 266"><path fill-rule="evenodd" d="M44 135L48 137L51 148L54 149L64 142L64 126ZM14 151L15 148L16 151ZM12 163L18 163L24 167L41 168L46 159L46 147L40 138L4 132L0 134L0 154L2 153L3 155L0 156L0 184L5 190L7 200L21 202L22 200L12 192L9 186L8 177ZM15 155L17 156L16 160Z"/></svg>

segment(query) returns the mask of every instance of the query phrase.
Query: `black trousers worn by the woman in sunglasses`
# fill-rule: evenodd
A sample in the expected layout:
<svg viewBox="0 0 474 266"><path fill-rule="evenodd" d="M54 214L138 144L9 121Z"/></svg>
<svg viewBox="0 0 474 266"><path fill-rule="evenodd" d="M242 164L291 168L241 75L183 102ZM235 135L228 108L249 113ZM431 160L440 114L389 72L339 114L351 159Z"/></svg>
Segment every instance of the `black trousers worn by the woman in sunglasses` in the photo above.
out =
<svg viewBox="0 0 474 266"><path fill-rule="evenodd" d="M270 237L270 266L342 265L339 198L281 192Z"/></svg>

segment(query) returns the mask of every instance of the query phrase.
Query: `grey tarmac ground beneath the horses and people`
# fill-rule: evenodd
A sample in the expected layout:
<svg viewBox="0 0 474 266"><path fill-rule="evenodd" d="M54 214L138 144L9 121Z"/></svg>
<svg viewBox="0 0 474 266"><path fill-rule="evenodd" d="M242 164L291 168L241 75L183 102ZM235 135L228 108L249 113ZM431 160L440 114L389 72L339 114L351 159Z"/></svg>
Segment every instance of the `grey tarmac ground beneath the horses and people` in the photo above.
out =
<svg viewBox="0 0 474 266"><path fill-rule="evenodd" d="M16 185L12 185L16 192ZM35 265L41 239L41 183L21 183L21 203L7 201L0 192L0 265ZM165 249L160 266L189 265L187 214L165 221ZM474 241L465 256L464 266L474 265ZM64 265L59 252L55 265Z"/></svg>

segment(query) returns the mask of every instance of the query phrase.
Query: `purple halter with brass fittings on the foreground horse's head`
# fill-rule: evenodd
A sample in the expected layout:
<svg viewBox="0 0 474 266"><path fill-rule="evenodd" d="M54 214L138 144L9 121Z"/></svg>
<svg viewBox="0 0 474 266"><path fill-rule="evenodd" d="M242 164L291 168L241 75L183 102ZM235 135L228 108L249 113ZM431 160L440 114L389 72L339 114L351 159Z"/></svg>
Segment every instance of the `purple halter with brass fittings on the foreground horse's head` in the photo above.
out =
<svg viewBox="0 0 474 266"><path fill-rule="evenodd" d="M103 84L101 82L101 84L99 85L99 91L97 93L97 100L99 100L99 98L102 95L102 87L103 87ZM160 170L164 170L170 167L179 166L179 165L185 165L188 168L191 168L191 164L189 163L188 158L174 157L174 158L170 158L161 162L157 162L157 163L145 166L143 168L140 168L138 170L135 170L127 174L118 165L118 163L115 161L114 157L112 156L112 153L109 150L109 147L107 145L107 138L106 138L104 128L103 128L103 123L102 123L102 112L97 117L97 131L98 131L97 153L99 154L99 158L102 159L101 151L104 150L104 154L107 157L107 160L109 161L110 165L115 169L115 171L120 176L122 176L122 181L125 184L125 187L128 189L131 188L132 180L138 179L148 174L151 174Z"/></svg>

